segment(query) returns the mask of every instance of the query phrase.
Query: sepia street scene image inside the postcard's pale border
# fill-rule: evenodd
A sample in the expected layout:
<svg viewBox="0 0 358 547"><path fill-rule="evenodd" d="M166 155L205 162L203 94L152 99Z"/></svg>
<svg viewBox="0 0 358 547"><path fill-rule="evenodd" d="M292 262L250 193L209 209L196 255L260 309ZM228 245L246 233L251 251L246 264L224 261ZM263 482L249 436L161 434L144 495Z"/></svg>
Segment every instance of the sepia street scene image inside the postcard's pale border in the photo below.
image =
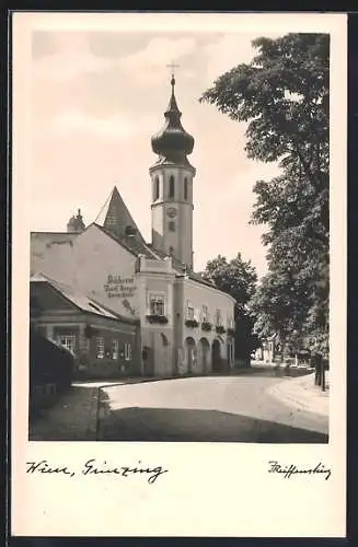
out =
<svg viewBox="0 0 358 547"><path fill-rule="evenodd" d="M325 443L330 35L32 35L30 440Z"/></svg>

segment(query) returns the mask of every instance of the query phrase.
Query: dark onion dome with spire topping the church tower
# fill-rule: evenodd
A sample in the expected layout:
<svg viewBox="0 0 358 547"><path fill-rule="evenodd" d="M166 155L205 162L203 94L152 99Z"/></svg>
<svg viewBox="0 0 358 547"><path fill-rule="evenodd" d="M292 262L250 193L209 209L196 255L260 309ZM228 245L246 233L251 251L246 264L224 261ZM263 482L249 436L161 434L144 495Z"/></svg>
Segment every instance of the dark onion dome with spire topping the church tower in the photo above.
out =
<svg viewBox="0 0 358 547"><path fill-rule="evenodd" d="M152 150L160 156L160 162L188 163L186 156L193 152L194 138L182 126L176 98L174 95L175 79L172 77L172 96L164 113L165 125L151 139Z"/></svg>

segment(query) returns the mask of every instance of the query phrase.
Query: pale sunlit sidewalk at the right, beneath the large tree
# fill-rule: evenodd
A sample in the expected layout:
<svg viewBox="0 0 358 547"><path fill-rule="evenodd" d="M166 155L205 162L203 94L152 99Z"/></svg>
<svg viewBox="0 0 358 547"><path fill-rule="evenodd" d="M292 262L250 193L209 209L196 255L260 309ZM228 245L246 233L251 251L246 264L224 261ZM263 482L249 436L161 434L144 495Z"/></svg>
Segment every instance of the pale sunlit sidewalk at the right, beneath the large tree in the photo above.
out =
<svg viewBox="0 0 358 547"><path fill-rule="evenodd" d="M314 385L314 374L284 380L268 389L269 395L281 403L323 416L330 414L330 373L326 372L326 391Z"/></svg>

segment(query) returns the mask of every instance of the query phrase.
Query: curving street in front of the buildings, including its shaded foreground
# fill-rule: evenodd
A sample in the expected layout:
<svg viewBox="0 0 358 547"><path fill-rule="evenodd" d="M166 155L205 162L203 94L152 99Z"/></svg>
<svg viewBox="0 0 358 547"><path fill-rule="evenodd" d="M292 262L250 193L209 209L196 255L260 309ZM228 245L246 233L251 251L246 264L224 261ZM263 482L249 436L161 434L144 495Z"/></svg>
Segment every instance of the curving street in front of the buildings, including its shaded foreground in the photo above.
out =
<svg viewBox="0 0 358 547"><path fill-rule="evenodd" d="M103 441L325 443L328 418L290 407L269 391L285 379L262 372L105 387Z"/></svg>

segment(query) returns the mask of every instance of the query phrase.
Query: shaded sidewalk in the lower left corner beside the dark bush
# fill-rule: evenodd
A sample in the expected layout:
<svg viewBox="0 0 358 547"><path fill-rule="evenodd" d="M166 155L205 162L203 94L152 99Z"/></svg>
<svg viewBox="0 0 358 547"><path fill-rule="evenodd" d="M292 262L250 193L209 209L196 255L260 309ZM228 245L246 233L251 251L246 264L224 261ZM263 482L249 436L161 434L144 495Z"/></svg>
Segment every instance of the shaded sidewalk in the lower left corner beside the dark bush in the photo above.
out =
<svg viewBox="0 0 358 547"><path fill-rule="evenodd" d="M30 441L95 441L99 389L71 386L30 424Z"/></svg>

